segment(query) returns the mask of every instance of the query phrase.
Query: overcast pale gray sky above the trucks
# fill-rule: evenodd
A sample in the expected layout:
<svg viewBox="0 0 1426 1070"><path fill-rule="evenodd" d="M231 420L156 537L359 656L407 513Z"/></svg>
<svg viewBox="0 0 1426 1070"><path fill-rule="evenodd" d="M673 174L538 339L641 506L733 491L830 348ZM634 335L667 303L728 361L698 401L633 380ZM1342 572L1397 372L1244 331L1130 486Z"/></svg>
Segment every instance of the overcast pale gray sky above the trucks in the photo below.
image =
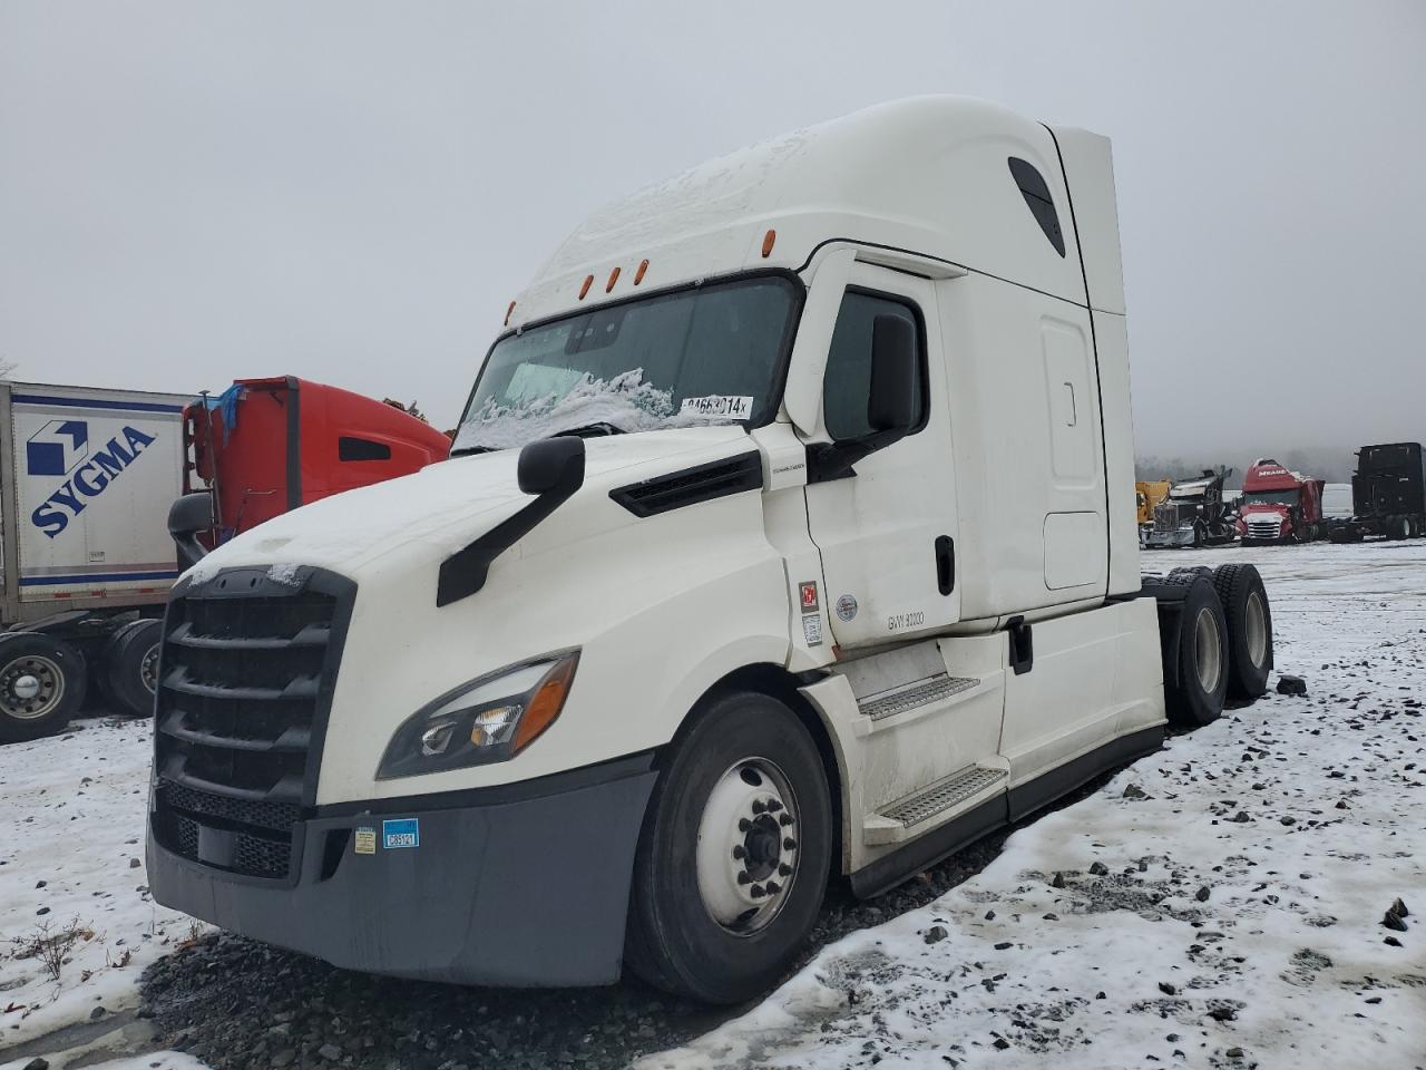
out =
<svg viewBox="0 0 1426 1070"><path fill-rule="evenodd" d="M1114 138L1141 451L1426 438L1417 0L0 0L0 357L449 425L592 208L930 91Z"/></svg>

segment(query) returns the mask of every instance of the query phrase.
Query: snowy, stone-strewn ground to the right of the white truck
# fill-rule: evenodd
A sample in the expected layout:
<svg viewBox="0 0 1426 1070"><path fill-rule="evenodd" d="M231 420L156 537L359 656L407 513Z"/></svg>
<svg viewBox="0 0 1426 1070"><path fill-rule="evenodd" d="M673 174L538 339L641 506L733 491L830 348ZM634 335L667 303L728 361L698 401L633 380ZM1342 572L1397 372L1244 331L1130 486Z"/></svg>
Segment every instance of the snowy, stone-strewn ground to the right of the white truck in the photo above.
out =
<svg viewBox="0 0 1426 1070"><path fill-rule="evenodd" d="M1306 698L1172 739L640 1066L1426 1066L1426 542L1145 568L1243 559Z"/></svg>

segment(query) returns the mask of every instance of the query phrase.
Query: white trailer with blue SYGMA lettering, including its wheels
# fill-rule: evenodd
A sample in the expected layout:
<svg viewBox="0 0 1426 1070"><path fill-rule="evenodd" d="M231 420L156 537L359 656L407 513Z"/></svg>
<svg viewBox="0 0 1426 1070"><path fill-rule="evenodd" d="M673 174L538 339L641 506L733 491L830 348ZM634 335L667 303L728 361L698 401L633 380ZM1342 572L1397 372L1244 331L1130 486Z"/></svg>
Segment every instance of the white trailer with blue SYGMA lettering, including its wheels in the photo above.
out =
<svg viewBox="0 0 1426 1070"><path fill-rule="evenodd" d="M188 395L0 382L0 742L153 708Z"/></svg>

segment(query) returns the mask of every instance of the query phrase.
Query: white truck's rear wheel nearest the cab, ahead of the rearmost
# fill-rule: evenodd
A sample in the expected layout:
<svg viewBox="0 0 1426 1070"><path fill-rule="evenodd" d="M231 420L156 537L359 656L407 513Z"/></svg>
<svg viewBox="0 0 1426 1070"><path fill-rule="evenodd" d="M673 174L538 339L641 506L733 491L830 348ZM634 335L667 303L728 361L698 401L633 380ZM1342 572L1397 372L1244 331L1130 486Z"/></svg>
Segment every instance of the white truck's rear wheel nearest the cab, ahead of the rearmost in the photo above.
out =
<svg viewBox="0 0 1426 1070"><path fill-rule="evenodd" d="M1179 603L1178 642L1165 651L1175 672L1165 666L1164 698L1175 725L1198 728L1218 720L1228 695L1228 623L1224 605L1208 576L1182 574L1168 584L1186 586Z"/></svg>

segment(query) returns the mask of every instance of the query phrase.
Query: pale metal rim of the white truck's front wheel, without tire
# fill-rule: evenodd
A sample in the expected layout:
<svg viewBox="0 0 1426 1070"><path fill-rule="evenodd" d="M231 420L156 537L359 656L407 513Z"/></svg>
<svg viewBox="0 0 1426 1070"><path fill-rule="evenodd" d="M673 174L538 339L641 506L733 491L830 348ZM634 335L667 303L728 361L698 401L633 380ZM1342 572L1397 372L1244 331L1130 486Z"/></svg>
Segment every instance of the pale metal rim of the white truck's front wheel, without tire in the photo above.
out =
<svg viewBox="0 0 1426 1070"><path fill-rule="evenodd" d="M722 929L750 936L771 924L797 880L797 796L776 762L746 758L703 805L694 855L699 897Z"/></svg>

